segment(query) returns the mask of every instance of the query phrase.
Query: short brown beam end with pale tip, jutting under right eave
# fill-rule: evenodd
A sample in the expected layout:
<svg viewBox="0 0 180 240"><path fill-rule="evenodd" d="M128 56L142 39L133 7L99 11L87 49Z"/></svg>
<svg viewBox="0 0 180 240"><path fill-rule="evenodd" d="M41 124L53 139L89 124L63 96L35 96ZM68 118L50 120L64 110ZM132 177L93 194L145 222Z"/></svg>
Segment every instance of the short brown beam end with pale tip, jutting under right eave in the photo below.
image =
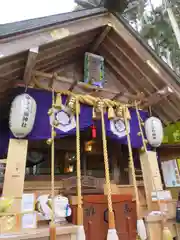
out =
<svg viewBox="0 0 180 240"><path fill-rule="evenodd" d="M166 86L163 89L151 94L141 106L142 108L147 108L149 106L155 105L172 93L172 89L169 86Z"/></svg>

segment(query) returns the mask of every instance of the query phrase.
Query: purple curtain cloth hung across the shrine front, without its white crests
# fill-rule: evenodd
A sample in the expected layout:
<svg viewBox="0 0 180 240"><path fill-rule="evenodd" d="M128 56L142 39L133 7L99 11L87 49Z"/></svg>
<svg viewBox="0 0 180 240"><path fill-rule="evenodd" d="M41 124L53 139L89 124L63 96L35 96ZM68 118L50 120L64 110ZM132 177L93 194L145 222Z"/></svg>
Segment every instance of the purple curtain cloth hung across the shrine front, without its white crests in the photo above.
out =
<svg viewBox="0 0 180 240"><path fill-rule="evenodd" d="M20 93L24 92L24 88L18 88L16 89L15 95L18 95ZM51 126L49 121L49 116L47 114L49 108L51 108L52 103L52 95L48 91L44 90L37 90L37 89L28 89L27 93L31 95L37 103L37 114L35 119L35 124L32 132L27 136L27 139L32 140L43 140L48 139L51 134ZM66 97L63 96L62 101L65 102ZM139 137L137 134L139 132L139 126L138 126L138 120L136 116L136 112L134 109L130 109L131 112L131 120L130 120L130 136L131 136L131 143L132 147L134 148L140 148L142 146L141 137ZM140 111L141 118L143 120L146 120L148 117L147 112ZM92 120L92 107L89 107L87 105L81 105L81 114L80 114L80 130L85 131L93 124ZM109 138L112 138L114 140L119 141L121 144L127 144L126 137L118 137L117 135L113 134L110 128L110 121L107 118L107 114L105 114L105 125L106 125L106 132L107 136ZM8 144L9 139L9 130L7 130L8 127L6 127L5 133L0 132L0 149L6 149L7 147L3 147L2 142ZM97 121L97 131L101 133L101 123L100 121ZM59 129L56 129L57 138L74 135L76 133L75 127L67 132L61 131ZM12 133L10 133L10 137L13 138ZM5 140L7 139L7 140ZM4 150L4 151L6 151ZM3 150L2 150L3 152Z"/></svg>

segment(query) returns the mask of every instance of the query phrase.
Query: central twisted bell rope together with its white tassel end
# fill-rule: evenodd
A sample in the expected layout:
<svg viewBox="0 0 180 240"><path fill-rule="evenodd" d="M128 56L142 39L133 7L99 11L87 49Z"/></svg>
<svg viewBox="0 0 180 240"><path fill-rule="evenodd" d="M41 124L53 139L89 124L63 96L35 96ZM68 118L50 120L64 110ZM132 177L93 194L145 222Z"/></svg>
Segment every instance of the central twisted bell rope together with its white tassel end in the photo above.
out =
<svg viewBox="0 0 180 240"><path fill-rule="evenodd" d="M116 229L115 229L115 219L114 219L114 212L113 212L113 208L112 208L111 184L110 184L110 176L109 176L109 162L108 162L106 127L105 127L105 121L104 121L103 102L101 102L100 108L101 108L100 110L101 110L101 123L102 123L102 141L103 141L105 178L106 178L107 201L108 201L109 229L108 229L108 234L107 234L107 240L119 240Z"/></svg>

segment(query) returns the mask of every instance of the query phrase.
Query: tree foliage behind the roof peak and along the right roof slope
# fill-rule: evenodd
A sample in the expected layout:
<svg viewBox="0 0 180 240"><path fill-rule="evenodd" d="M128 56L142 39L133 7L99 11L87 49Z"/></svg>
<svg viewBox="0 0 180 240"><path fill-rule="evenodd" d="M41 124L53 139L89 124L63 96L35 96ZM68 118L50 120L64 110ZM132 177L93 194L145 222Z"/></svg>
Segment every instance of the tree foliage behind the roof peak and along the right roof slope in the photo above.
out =
<svg viewBox="0 0 180 240"><path fill-rule="evenodd" d="M180 49L165 6L154 8L151 0L124 0L122 16L178 75ZM78 8L99 7L104 0L76 0ZM171 7L180 26L180 0L172 0Z"/></svg>

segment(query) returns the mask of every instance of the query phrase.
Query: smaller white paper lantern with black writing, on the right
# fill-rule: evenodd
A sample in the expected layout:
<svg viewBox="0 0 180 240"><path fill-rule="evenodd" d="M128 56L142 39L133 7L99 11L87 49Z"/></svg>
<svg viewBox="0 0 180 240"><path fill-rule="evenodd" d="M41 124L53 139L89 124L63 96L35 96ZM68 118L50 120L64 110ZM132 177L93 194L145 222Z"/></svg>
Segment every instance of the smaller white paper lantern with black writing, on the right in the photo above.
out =
<svg viewBox="0 0 180 240"><path fill-rule="evenodd" d="M163 141L163 126L159 118L150 117L145 121L145 133L152 147L159 147Z"/></svg>

